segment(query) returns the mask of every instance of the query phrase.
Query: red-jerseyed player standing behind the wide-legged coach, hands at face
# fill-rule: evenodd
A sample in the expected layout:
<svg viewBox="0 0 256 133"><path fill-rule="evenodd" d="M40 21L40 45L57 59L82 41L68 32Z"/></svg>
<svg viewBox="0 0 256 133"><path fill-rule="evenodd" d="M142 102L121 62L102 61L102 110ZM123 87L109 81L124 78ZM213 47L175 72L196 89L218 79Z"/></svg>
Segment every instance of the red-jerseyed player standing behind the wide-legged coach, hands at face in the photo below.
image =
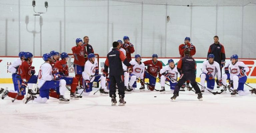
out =
<svg viewBox="0 0 256 133"><path fill-rule="evenodd" d="M186 37L184 41L185 41L184 42L185 44L181 44L179 46L180 58L184 57L184 51L189 51L190 56L192 57L193 55L196 54L196 47L192 43L190 43L190 38L189 37ZM189 86L189 83L190 82L188 80L187 84L185 85L185 83L184 83L184 85L182 85L181 88L184 89L185 86L186 86L188 89L190 89L191 87Z"/></svg>

